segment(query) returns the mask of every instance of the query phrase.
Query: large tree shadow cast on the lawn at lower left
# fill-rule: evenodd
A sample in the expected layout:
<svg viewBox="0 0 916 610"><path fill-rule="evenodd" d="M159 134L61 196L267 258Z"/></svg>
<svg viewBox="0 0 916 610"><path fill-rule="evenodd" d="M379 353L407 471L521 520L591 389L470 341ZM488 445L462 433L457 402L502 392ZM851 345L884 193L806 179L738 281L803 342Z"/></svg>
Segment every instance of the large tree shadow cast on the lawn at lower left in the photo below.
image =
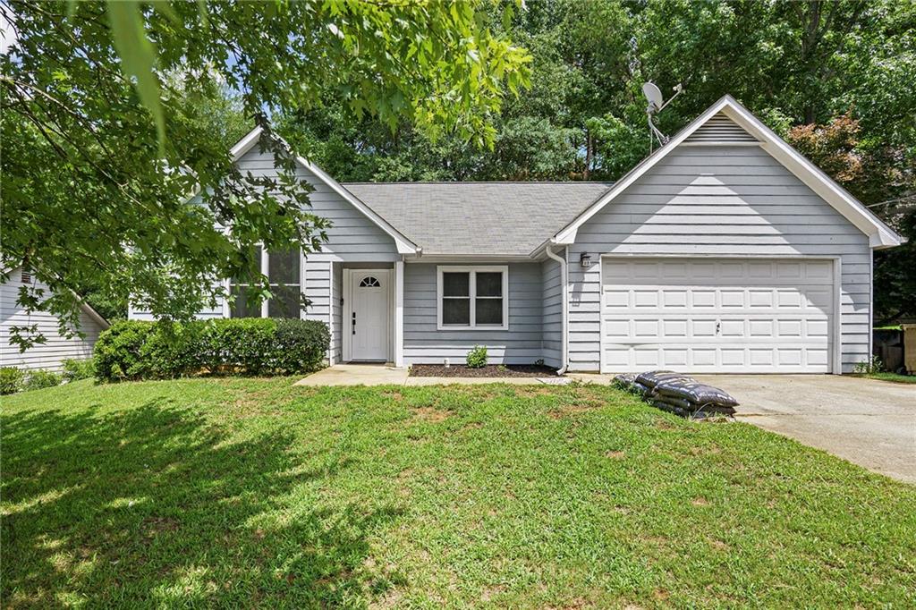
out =
<svg viewBox="0 0 916 610"><path fill-rule="evenodd" d="M398 509L315 506L346 461L234 441L167 400L5 418L5 607L338 605L389 586L366 537ZM319 458L321 459L321 458Z"/></svg>

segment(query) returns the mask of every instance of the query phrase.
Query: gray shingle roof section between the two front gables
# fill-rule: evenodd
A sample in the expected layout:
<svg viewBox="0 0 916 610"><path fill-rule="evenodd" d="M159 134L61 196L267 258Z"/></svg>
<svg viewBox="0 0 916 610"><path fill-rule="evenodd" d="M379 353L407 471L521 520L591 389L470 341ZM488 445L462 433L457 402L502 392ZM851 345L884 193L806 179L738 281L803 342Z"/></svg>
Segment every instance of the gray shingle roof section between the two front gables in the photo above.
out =
<svg viewBox="0 0 916 610"><path fill-rule="evenodd" d="M424 255L528 256L611 182L348 182Z"/></svg>

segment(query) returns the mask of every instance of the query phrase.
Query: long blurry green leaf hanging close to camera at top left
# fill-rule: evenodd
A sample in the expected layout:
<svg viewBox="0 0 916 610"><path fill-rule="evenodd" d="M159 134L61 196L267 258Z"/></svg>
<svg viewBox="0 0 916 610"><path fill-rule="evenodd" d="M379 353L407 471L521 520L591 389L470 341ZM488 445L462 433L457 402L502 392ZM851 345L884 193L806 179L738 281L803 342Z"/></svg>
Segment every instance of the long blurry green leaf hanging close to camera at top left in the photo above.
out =
<svg viewBox="0 0 916 610"><path fill-rule="evenodd" d="M121 70L128 79L136 79L134 86L140 102L147 107L156 121L161 152L166 139L166 119L162 101L159 99L159 81L154 71L156 48L147 38L143 27L140 3L135 0L109 0L107 5L114 49L121 58Z"/></svg>

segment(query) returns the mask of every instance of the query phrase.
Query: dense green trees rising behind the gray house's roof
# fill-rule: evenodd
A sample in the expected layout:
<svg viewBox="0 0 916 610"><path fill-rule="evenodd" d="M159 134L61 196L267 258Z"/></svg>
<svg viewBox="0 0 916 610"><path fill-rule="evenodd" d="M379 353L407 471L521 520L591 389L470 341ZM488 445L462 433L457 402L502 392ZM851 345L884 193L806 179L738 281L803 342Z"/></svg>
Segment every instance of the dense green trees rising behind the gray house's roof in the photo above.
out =
<svg viewBox="0 0 916 610"><path fill-rule="evenodd" d="M284 115L284 133L348 180L616 180L648 153L642 83L680 82L667 134L731 93L867 205L916 193L916 3L529 0L498 17L531 87L503 104L492 150L333 110ZM877 320L916 316L908 202L872 208L911 238L876 253Z"/></svg>

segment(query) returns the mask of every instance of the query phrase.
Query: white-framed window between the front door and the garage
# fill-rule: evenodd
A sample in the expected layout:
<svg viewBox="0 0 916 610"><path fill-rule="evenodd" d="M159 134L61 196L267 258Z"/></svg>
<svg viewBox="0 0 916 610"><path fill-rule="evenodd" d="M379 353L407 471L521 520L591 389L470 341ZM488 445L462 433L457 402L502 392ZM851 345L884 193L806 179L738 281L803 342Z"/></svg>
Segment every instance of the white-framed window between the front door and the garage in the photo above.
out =
<svg viewBox="0 0 916 610"><path fill-rule="evenodd" d="M439 267L439 329L508 329L507 267Z"/></svg>

